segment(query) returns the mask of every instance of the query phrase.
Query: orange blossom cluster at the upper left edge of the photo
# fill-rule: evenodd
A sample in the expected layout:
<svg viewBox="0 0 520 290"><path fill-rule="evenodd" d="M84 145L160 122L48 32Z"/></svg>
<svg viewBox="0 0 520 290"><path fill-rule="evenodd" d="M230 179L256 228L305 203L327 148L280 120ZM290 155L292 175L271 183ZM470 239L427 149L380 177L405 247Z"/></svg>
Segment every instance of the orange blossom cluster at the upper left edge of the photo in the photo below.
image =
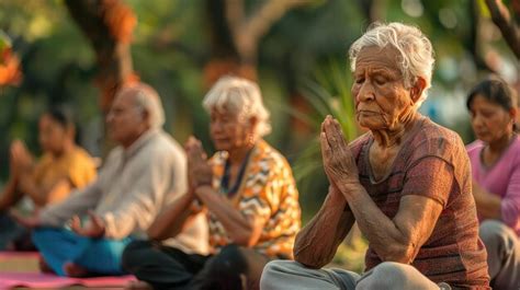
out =
<svg viewBox="0 0 520 290"><path fill-rule="evenodd" d="M0 31L0 86L15 85L21 80L20 60L12 51L9 37Z"/></svg>

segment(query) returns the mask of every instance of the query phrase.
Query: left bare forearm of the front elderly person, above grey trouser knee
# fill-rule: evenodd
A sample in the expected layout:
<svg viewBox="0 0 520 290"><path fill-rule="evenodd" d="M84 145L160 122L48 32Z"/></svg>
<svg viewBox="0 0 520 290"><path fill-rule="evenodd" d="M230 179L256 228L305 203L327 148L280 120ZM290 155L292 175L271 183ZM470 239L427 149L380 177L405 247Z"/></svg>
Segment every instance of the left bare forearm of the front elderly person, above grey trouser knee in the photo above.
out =
<svg viewBox="0 0 520 290"><path fill-rule="evenodd" d="M341 193L330 186L321 209L296 236L295 260L310 268L321 268L334 258L355 221L347 207Z"/></svg>

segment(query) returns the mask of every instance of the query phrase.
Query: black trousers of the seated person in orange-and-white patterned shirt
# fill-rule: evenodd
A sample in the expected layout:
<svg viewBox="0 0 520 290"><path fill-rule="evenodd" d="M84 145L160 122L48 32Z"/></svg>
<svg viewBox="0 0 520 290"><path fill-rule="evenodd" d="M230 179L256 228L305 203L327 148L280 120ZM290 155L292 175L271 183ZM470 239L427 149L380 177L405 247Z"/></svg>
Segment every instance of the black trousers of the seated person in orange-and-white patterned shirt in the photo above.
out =
<svg viewBox="0 0 520 290"><path fill-rule="evenodd" d="M270 260L234 244L210 256L149 241L134 241L123 252L123 268L158 290L259 289L263 266Z"/></svg>

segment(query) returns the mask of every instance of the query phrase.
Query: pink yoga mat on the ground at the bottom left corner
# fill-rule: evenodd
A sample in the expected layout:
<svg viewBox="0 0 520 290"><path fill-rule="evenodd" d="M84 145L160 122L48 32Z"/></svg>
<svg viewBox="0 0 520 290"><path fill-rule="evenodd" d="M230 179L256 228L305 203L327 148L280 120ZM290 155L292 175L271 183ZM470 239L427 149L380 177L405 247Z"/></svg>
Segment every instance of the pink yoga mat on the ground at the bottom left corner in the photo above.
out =
<svg viewBox="0 0 520 290"><path fill-rule="evenodd" d="M134 276L97 277L97 278L68 278L39 272L0 272L0 289L13 287L29 288L60 288L72 285L84 287L117 287L123 288L129 281L135 281Z"/></svg>

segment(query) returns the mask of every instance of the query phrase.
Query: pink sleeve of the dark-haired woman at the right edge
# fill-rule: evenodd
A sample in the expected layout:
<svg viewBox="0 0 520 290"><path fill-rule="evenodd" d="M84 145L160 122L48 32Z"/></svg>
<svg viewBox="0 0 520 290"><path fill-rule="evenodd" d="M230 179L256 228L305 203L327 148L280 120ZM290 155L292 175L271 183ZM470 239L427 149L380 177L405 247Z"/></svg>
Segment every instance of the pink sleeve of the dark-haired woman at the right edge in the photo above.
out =
<svg viewBox="0 0 520 290"><path fill-rule="evenodd" d="M520 164L516 164L501 201L502 221L520 232Z"/></svg>

